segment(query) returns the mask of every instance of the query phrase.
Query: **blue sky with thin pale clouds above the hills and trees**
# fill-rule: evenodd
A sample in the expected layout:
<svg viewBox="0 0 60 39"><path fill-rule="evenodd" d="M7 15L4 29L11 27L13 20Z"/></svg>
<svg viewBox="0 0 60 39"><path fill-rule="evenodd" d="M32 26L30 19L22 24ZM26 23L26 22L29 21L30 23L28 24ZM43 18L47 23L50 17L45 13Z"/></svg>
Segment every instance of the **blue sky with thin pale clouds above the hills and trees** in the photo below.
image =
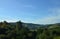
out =
<svg viewBox="0 0 60 39"><path fill-rule="evenodd" d="M60 0L0 0L0 22L60 23Z"/></svg>

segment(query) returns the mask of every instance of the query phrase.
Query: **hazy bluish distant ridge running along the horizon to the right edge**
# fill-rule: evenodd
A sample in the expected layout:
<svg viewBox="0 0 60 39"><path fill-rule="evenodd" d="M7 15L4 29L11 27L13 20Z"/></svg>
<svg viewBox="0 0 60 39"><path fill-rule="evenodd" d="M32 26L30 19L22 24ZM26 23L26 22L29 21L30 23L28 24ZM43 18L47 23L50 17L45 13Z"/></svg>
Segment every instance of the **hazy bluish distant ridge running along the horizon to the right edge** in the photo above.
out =
<svg viewBox="0 0 60 39"><path fill-rule="evenodd" d="M10 23L12 25L16 25L16 23ZM42 25L42 24L33 24L33 23L22 23L22 25L24 27L27 27L28 29L38 29L40 27L49 27L49 26L53 26L53 25L59 25L60 26L60 23L56 23L56 24L48 24L48 25Z"/></svg>

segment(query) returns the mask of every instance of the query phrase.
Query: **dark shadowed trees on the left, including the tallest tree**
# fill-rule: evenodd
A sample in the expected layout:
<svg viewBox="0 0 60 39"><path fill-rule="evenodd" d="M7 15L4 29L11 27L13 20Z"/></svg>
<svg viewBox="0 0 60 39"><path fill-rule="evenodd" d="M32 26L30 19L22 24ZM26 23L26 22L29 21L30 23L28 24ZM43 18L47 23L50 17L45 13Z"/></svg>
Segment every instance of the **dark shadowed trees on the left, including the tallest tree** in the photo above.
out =
<svg viewBox="0 0 60 39"><path fill-rule="evenodd" d="M0 39L35 39L35 32L23 27L22 22L12 25L6 21L0 23Z"/></svg>

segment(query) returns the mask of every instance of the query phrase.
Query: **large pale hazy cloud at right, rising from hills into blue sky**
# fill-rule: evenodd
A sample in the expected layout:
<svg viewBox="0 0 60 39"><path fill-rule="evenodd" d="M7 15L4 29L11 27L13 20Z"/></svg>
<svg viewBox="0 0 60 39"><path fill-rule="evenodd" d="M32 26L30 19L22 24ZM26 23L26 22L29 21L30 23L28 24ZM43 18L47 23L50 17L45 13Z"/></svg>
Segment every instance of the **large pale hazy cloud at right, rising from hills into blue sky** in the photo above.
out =
<svg viewBox="0 0 60 39"><path fill-rule="evenodd" d="M48 13L51 13L49 16L37 19L35 23L38 24L53 24L60 22L60 8L49 9Z"/></svg>

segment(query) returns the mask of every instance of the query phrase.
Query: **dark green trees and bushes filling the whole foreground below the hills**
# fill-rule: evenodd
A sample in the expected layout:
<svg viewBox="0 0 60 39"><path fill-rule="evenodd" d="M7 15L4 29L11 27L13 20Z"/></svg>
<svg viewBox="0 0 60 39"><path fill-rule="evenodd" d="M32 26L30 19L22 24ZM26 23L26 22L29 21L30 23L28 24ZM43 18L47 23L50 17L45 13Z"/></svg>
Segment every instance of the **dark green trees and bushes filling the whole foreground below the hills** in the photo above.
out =
<svg viewBox="0 0 60 39"><path fill-rule="evenodd" d="M23 22L15 24L0 22L0 39L60 39L60 25L47 25L37 31L31 31L23 26Z"/></svg>

